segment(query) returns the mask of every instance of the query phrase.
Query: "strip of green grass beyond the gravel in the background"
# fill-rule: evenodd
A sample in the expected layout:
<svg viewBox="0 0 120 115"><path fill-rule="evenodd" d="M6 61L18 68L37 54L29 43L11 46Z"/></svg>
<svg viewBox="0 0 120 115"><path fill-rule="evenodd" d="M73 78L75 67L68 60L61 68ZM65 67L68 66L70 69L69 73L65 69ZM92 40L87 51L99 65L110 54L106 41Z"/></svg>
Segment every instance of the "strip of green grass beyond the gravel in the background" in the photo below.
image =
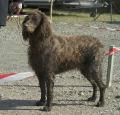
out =
<svg viewBox="0 0 120 115"><path fill-rule="evenodd" d="M33 11L34 9L32 8L26 8L23 10L24 13L29 13ZM47 11L46 14L49 16L49 12ZM115 22L120 23L120 15L119 14L113 14L112 19ZM58 11L58 10L53 10L53 22L90 22L94 21L93 17L90 17L90 13L86 12L72 12L72 11ZM100 22L110 22L110 13L104 13L101 14L96 21Z"/></svg>

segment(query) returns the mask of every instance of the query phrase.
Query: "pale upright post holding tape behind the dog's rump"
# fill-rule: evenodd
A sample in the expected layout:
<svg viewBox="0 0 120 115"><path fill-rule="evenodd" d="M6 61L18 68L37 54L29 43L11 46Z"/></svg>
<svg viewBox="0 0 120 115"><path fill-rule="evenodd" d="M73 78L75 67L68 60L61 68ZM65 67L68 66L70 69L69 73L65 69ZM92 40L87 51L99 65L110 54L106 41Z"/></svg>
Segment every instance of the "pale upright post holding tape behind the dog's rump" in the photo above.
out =
<svg viewBox="0 0 120 115"><path fill-rule="evenodd" d="M109 47L109 51L113 49L114 45ZM113 73L113 63L114 63L114 54L109 55L108 57L108 68L107 68L107 81L106 86L110 87L112 84L112 73Z"/></svg>

